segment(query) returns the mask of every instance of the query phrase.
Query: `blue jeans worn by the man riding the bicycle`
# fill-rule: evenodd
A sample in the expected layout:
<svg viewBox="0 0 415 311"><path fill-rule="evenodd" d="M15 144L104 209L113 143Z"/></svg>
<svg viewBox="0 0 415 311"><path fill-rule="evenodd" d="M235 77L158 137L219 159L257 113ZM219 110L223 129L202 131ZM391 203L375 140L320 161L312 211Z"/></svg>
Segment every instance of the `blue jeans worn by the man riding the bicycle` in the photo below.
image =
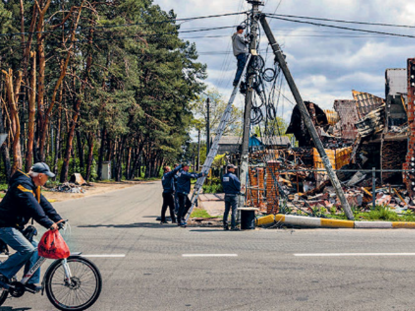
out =
<svg viewBox="0 0 415 311"><path fill-rule="evenodd" d="M29 242L18 229L12 227L0 228L0 239L16 250L16 253L0 264L0 273L8 279L15 276L23 266L24 274L26 274L39 259L38 242L35 240ZM39 268L27 283L38 284L40 279L41 269Z"/></svg>

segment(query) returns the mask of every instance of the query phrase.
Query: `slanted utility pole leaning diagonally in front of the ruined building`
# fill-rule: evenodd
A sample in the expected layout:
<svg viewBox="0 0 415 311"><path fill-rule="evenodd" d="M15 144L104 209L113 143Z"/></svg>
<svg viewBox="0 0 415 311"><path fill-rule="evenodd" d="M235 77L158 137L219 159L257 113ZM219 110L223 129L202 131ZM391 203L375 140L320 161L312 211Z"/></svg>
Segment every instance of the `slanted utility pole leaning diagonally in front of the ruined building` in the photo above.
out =
<svg viewBox="0 0 415 311"><path fill-rule="evenodd" d="M285 57L282 54L279 44L275 41L274 35L271 32L270 26L267 20L265 19L265 15L261 15L260 22L262 24L262 28L264 29L265 34L267 35L267 38L268 38L268 41L270 42L272 50L275 54L275 60L278 62L278 65L280 66L282 72L284 73L285 79L291 89L295 102L297 103L298 108L301 111L304 123L307 127L307 130L309 131L311 135L315 148L317 148L317 151L320 154L321 159L323 160L324 167L326 168L327 174L329 175L329 178L332 181L332 185L334 187L334 190L336 191L337 198L339 198L340 203L343 207L343 210L347 218L350 220L353 220L354 218L353 213L352 213L352 210L350 209L348 201L346 200L344 196L344 192L341 187L341 184L332 169L332 164L330 163L330 160L326 154L326 151L324 150L323 144L321 143L320 137L318 136L317 131L315 130L314 124L311 121L309 111L307 110L306 105L304 105L300 92L298 91L297 86L294 83L294 79L292 78L290 70L287 67L287 63L285 62Z"/></svg>

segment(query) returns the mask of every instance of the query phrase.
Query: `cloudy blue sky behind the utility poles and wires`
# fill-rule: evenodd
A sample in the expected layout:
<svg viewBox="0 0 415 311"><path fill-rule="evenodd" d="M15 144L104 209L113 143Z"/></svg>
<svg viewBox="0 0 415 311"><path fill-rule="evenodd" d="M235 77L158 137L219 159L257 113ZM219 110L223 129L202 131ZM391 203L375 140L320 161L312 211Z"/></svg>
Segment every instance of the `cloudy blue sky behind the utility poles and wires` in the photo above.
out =
<svg viewBox="0 0 415 311"><path fill-rule="evenodd" d="M310 16L337 20L415 25L415 1L408 0L265 0L265 13ZM178 18L245 11L246 0L155 0L163 10L173 9ZM278 6L279 5L279 6ZM278 6L278 8L277 8ZM244 16L184 22L181 30L237 25ZM352 89L384 97L385 69L406 67L406 59L415 57L415 38L362 34L347 30L301 23L269 20L303 100L323 109L332 109L335 99L352 99ZM353 28L415 35L415 28L338 24ZM200 61L207 64L206 83L228 97L236 68L231 53L230 35L234 29L182 34L195 42ZM199 38L203 36L203 38ZM209 38L215 36L214 38ZM216 37L217 36L217 37ZM198 37L191 39L191 37ZM262 55L266 57L267 40L262 36ZM268 65L272 58L268 54ZM288 87L284 94L292 100ZM237 105L242 105L239 95ZM283 101L278 115L289 120L292 105Z"/></svg>

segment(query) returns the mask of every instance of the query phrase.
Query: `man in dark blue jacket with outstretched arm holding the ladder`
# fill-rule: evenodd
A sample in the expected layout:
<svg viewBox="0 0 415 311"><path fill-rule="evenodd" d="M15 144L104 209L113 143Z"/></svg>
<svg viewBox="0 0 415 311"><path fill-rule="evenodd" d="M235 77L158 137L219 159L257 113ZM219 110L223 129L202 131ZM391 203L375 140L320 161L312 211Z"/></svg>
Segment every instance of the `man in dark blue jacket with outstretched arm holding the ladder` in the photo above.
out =
<svg viewBox="0 0 415 311"><path fill-rule="evenodd" d="M179 202L179 209L177 211L177 225L186 226L184 217L186 216L191 202L187 195L190 193L190 179L200 178L206 176L206 173L189 173L190 165L188 163L182 164L182 169L177 173L177 200Z"/></svg>

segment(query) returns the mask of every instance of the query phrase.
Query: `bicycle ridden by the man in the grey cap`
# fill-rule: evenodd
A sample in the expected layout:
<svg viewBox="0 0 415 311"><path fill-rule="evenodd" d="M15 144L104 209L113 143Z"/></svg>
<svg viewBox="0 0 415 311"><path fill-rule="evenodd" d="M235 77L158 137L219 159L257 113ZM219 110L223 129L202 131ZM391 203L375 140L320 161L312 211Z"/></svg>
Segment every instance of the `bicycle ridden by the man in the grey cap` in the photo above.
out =
<svg viewBox="0 0 415 311"><path fill-rule="evenodd" d="M66 222L58 223L59 229L63 229ZM34 227L33 229L36 231ZM33 235L36 235L36 233ZM7 244L1 240L0 253L9 255ZM100 296L102 289L101 273L94 263L80 255L81 253L74 253L68 258L55 260L43 276L42 295L46 291L49 301L59 310L86 310ZM0 306L6 300L8 294L20 298L26 291L37 293L26 289L24 285L45 261L46 258L40 257L35 265L23 275L20 282L17 281L16 277L8 284L0 281Z"/></svg>

